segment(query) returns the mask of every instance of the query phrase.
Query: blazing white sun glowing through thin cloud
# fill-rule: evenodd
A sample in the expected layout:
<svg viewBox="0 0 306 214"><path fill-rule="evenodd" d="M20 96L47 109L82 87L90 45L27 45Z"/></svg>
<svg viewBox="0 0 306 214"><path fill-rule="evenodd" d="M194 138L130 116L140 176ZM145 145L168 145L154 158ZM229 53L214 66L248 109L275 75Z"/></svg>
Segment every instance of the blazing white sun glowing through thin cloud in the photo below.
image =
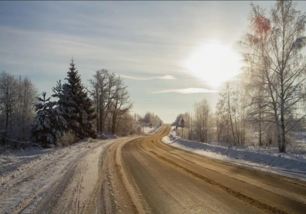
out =
<svg viewBox="0 0 306 214"><path fill-rule="evenodd" d="M201 44L184 62L184 67L215 88L239 74L240 61L230 45L213 41Z"/></svg>

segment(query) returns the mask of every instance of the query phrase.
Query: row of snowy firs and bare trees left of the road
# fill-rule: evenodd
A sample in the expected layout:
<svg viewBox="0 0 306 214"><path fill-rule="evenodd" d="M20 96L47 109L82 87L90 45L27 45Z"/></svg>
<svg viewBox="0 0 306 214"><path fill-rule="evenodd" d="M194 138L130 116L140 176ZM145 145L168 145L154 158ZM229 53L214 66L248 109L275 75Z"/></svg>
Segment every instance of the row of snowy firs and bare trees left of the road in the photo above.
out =
<svg viewBox="0 0 306 214"><path fill-rule="evenodd" d="M39 96L29 78L1 73L2 146L12 148L32 142L44 147L65 146L87 137L99 138L101 133L142 133L142 120L140 125L140 119L130 114L133 103L127 86L114 73L98 70L85 87L72 59L65 83L59 80L51 90L50 97L46 92ZM86 125L84 112L88 115ZM163 124L158 116L147 114L146 123Z"/></svg>

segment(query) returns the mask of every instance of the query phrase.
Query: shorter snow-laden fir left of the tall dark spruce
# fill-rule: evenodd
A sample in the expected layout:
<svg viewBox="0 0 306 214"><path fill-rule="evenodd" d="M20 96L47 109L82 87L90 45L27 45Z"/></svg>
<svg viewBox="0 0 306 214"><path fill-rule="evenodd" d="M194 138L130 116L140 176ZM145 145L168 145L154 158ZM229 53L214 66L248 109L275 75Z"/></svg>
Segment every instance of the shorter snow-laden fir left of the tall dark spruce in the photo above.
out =
<svg viewBox="0 0 306 214"><path fill-rule="evenodd" d="M67 122L62 117L59 107L54 106L57 102L46 99L46 92L42 98L38 97L39 103L35 104L36 117L32 127L33 139L44 147L55 145L56 140L62 136L67 128Z"/></svg>

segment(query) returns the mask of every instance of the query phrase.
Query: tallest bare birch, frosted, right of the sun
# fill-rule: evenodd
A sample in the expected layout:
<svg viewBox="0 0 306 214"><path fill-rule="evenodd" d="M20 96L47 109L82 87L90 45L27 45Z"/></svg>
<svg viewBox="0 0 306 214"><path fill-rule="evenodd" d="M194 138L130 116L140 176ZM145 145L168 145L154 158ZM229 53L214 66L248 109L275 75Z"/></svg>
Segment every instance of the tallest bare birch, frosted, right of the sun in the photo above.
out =
<svg viewBox="0 0 306 214"><path fill-rule="evenodd" d="M250 31L240 42L248 87L257 92L252 98L258 122L275 125L279 152L285 152L286 135L306 119L306 14L293 1L276 1L269 16L251 5Z"/></svg>

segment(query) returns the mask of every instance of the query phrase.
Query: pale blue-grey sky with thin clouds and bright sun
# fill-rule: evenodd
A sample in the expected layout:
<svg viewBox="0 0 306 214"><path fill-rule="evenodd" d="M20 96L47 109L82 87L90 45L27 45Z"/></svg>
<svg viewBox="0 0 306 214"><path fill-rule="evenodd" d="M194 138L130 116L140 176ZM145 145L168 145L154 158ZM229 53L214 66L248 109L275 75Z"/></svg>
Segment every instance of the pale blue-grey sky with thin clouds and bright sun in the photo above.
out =
<svg viewBox="0 0 306 214"><path fill-rule="evenodd" d="M224 82L236 81L250 9L250 1L0 1L0 71L51 95L73 56L85 86L108 69L124 78L131 113L171 123L204 98L214 109Z"/></svg>

